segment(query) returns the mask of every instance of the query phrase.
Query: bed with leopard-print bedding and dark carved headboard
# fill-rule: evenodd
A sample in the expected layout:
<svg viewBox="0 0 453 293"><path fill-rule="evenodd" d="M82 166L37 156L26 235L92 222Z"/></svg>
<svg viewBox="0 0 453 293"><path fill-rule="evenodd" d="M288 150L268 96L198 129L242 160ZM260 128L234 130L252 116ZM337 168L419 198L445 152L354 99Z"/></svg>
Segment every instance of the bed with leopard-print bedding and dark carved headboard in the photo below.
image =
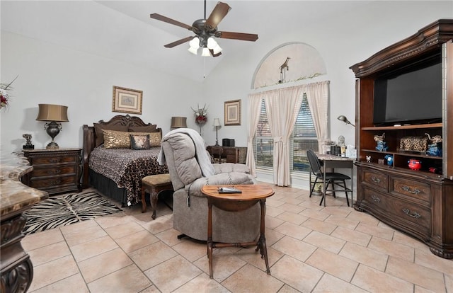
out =
<svg viewBox="0 0 453 293"><path fill-rule="evenodd" d="M116 115L107 122L83 125L83 132L84 188L96 188L122 207L141 202L142 178L168 173L167 166L157 162L162 130L156 125L139 117ZM139 138L143 137L149 138L148 147L141 147Z"/></svg>

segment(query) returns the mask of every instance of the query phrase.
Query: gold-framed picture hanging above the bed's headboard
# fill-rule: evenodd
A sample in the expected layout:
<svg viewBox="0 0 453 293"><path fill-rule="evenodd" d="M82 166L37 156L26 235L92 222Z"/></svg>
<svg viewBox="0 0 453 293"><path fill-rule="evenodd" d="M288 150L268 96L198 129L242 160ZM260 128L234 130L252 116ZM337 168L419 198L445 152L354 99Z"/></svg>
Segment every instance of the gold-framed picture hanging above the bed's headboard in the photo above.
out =
<svg viewBox="0 0 453 293"><path fill-rule="evenodd" d="M142 114L143 91L113 86L113 112Z"/></svg>

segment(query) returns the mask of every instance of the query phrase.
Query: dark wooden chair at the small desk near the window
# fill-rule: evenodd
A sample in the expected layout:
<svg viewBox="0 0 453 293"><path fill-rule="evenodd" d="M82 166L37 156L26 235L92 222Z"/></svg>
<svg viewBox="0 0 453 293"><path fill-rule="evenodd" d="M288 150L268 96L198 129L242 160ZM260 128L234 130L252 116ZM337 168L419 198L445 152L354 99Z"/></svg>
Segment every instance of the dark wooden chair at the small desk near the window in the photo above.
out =
<svg viewBox="0 0 453 293"><path fill-rule="evenodd" d="M324 173L323 173L323 169L321 166L322 165L321 161L319 161L318 156L316 156L316 153L314 151L312 151L311 149L307 150L306 156L309 158L311 172L315 176L313 187L310 190L310 197L311 197L311 193L313 193L314 186L316 185L318 180L321 180L321 182L324 184L324 182L323 182ZM323 192L323 195L322 195L323 197L321 198L321 202L319 202L319 205L321 205L323 203L323 201L324 201L324 206L326 205L326 191L332 191L333 197L336 197L335 196L335 191L336 191L335 186L337 185L337 186L340 186L341 188L343 188L342 191L344 191L346 194L346 202L348 202L348 207L349 207L348 192L352 192L352 190L350 190L349 188L346 187L346 180L350 180L350 179L351 179L350 176L347 176L342 173L326 172L326 183L325 183L326 190L324 190L324 192ZM331 190L328 189L328 185L332 186Z"/></svg>

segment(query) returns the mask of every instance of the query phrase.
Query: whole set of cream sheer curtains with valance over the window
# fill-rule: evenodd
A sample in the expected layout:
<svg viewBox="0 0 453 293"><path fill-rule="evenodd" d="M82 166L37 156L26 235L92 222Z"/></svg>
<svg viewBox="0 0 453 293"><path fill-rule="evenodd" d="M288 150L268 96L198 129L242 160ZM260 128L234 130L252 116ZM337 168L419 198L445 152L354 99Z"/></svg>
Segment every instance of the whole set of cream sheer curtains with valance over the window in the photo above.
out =
<svg viewBox="0 0 453 293"><path fill-rule="evenodd" d="M261 100L265 100L270 132L274 141L273 171L274 184L288 186L291 184L291 166L289 165L289 137L297 120L302 98L306 93L313 118L319 149L328 140L328 93L330 81L304 84L272 91L252 93L250 98L247 141L247 165L251 174L256 176L256 165L253 156L253 137L256 133L260 115Z"/></svg>

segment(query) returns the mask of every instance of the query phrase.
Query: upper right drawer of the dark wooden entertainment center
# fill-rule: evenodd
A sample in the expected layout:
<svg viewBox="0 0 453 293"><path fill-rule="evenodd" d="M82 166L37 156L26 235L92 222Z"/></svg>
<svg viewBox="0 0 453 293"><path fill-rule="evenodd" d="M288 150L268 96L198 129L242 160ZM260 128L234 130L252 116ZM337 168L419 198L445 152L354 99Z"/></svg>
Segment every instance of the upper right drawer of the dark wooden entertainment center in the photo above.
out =
<svg viewBox="0 0 453 293"><path fill-rule="evenodd" d="M390 193L423 200L429 205L431 201L431 185L403 178L391 178L391 181Z"/></svg>

